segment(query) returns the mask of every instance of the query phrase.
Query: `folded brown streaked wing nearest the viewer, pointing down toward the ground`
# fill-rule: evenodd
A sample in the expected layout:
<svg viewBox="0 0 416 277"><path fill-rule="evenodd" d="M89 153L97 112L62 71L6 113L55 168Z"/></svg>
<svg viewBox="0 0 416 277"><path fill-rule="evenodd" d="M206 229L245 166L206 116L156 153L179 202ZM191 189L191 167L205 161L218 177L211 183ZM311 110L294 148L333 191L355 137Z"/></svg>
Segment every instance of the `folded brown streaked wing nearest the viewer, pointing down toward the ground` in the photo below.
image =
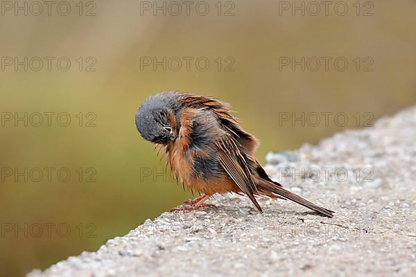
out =
<svg viewBox="0 0 416 277"><path fill-rule="evenodd" d="M240 190L250 198L254 206L260 212L263 212L256 198L254 198L254 194L257 193L257 188L250 167L248 166L248 157L240 151L237 143L229 134L225 134L216 139L220 165L236 185L239 186Z"/></svg>

